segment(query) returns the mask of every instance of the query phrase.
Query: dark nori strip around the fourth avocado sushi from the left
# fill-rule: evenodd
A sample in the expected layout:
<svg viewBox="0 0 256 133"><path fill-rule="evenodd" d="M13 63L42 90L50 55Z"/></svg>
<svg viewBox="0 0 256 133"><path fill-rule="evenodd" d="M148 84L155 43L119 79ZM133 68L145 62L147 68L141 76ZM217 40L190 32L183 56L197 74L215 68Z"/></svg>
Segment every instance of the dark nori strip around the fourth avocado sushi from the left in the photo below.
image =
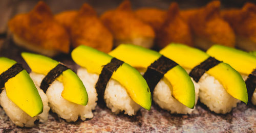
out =
<svg viewBox="0 0 256 133"><path fill-rule="evenodd" d="M177 65L178 64L173 60L170 60L165 56L161 56L147 67L143 77L145 78L148 87L150 87L152 94L157 83L163 78L163 75Z"/></svg>

